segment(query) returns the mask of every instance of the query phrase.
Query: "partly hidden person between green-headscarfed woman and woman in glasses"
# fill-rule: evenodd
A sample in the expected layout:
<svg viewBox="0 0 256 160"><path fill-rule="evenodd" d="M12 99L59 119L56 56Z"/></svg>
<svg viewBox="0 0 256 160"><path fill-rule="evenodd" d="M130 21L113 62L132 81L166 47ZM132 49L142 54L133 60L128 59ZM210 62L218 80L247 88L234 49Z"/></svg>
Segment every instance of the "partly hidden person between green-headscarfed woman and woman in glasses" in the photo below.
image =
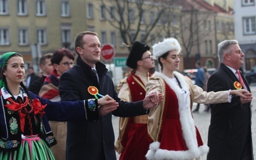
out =
<svg viewBox="0 0 256 160"><path fill-rule="evenodd" d="M51 73L52 71L52 63L51 63L52 53L47 53L40 58L39 66L43 72L42 77L36 79L29 85L28 90L33 92L34 94L38 95L40 92L41 87L44 84L45 78Z"/></svg>

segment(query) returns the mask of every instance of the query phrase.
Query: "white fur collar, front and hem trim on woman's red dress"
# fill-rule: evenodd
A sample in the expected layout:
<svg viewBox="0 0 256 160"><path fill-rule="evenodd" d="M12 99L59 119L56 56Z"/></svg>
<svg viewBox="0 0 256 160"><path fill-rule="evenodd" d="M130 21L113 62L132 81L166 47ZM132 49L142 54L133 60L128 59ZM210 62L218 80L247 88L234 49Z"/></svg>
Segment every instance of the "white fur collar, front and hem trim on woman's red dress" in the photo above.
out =
<svg viewBox="0 0 256 160"><path fill-rule="evenodd" d="M184 76L176 71L173 72L173 74L177 77L177 79L179 79L179 82L182 88L189 93L189 86L186 83ZM179 105L184 104L182 89L179 86L177 86L177 84L174 84L170 80L170 78L168 78L162 73L155 72L154 75L163 78L164 81L166 81L166 83L168 84L168 86L172 88L172 90L177 95ZM156 144L155 144L156 142L154 142L150 145L150 149L148 150L148 153L146 155L148 159L193 159L196 157L200 157L202 156L202 154L209 152L209 147L207 147L207 145L198 147L195 122L191 115L190 100L191 99L188 96L186 99L186 102L187 102L186 109L179 109L182 136L186 142L188 150L184 150L184 151L163 150L163 149L156 150ZM159 142L157 142L157 145L159 146L158 143Z"/></svg>

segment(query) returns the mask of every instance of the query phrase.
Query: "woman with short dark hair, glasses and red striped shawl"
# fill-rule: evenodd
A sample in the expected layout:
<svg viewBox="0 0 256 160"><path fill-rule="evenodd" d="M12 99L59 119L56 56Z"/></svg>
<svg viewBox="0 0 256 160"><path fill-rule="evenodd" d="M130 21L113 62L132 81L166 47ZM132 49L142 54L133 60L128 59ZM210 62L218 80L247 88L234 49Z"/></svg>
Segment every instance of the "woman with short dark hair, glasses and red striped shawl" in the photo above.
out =
<svg viewBox="0 0 256 160"><path fill-rule="evenodd" d="M59 83L63 72L73 67L74 56L69 49L61 48L53 52L51 63L52 72L45 78L39 96L53 102L60 101ZM67 122L49 121L52 132L57 140L57 145L51 147L55 159L65 159Z"/></svg>

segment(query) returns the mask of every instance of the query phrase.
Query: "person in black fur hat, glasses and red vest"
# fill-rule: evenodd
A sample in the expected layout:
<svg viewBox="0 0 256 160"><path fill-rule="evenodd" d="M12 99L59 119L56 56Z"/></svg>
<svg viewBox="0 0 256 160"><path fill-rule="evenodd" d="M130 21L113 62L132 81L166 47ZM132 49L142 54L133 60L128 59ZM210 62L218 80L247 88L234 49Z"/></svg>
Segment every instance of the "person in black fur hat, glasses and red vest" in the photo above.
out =
<svg viewBox="0 0 256 160"><path fill-rule="evenodd" d="M154 60L150 47L141 42L134 42L126 65L132 68L131 75L118 84L118 97L127 102L143 100L146 84L152 75ZM147 140L148 116L120 118L119 136L115 143L120 159L145 159L149 143Z"/></svg>

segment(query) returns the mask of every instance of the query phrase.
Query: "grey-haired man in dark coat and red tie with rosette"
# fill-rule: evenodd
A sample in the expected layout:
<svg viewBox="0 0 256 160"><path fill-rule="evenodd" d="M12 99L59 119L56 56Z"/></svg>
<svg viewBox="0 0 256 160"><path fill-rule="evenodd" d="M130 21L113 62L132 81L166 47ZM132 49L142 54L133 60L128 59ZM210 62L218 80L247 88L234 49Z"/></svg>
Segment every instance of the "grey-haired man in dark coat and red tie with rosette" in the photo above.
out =
<svg viewBox="0 0 256 160"><path fill-rule="evenodd" d="M245 89L250 92L243 73L244 53L237 40L224 40L218 44L220 67L207 83L207 91ZM252 95L246 99L230 97L230 103L211 104L211 124L208 133L207 160L252 160Z"/></svg>

